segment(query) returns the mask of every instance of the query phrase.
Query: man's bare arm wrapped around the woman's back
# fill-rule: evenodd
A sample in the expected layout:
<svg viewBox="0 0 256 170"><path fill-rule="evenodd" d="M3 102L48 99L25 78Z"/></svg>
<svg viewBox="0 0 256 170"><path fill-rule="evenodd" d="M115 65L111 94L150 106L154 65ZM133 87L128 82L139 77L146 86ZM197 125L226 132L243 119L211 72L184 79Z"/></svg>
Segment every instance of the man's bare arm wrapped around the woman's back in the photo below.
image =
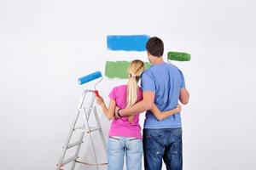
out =
<svg viewBox="0 0 256 170"><path fill-rule="evenodd" d="M132 105L130 108L125 108L119 111L120 116L130 116L143 111L151 110L154 104L154 92L143 92L143 100Z"/></svg>

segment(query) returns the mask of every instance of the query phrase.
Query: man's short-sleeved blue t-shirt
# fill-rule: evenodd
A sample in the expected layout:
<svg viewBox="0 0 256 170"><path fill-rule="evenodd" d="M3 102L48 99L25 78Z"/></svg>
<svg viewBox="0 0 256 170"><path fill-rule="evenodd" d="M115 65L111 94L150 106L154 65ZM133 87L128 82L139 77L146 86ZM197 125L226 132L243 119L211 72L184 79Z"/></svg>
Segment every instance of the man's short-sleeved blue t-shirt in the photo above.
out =
<svg viewBox="0 0 256 170"><path fill-rule="evenodd" d="M154 92L154 104L160 111L169 111L177 107L179 92L185 88L182 71L177 66L162 62L152 65L143 72L141 86L143 92ZM158 121L151 111L146 112L144 128L175 128L181 127L180 113Z"/></svg>

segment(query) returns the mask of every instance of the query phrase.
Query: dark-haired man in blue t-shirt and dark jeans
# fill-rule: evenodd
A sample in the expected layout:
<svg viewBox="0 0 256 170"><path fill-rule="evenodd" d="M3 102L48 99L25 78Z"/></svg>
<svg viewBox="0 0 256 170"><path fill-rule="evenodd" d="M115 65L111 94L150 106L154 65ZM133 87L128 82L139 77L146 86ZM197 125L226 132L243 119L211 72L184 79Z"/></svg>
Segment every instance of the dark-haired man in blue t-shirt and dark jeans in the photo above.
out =
<svg viewBox="0 0 256 170"><path fill-rule="evenodd" d="M189 102L189 92L185 88L182 71L175 65L164 62L164 44L160 38L149 38L146 48L152 66L143 72L143 100L130 108L116 110L116 115L129 116L147 111L143 129L145 169L160 170L163 159L167 170L181 170L183 153L180 113L158 121L150 109L155 104L160 111L172 110L177 106L178 99L186 105Z"/></svg>

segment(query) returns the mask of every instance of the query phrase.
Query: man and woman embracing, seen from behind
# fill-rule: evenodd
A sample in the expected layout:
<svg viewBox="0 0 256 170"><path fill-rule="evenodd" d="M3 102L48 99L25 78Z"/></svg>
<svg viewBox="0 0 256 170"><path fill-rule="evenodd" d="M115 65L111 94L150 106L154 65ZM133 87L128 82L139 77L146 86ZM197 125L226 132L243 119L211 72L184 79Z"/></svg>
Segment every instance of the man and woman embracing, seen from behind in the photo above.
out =
<svg viewBox="0 0 256 170"><path fill-rule="evenodd" d="M141 60L128 67L128 83L113 88L107 107L102 98L97 104L109 120L113 119L108 138L108 170L122 170L124 156L127 170L160 170L162 159L167 170L181 170L181 106L189 102L182 71L164 62L164 44L158 37L148 39L148 59L152 66L144 71ZM141 78L141 88L137 82ZM143 138L139 114L147 111Z"/></svg>

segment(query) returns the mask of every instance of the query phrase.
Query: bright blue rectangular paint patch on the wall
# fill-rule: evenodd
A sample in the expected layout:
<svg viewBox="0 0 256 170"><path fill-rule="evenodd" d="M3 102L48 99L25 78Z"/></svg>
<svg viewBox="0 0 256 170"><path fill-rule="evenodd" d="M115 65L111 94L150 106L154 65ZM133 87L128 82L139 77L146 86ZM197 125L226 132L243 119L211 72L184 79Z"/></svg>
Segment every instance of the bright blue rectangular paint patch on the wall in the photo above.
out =
<svg viewBox="0 0 256 170"><path fill-rule="evenodd" d="M147 35L108 36L108 49L113 51L146 51Z"/></svg>

